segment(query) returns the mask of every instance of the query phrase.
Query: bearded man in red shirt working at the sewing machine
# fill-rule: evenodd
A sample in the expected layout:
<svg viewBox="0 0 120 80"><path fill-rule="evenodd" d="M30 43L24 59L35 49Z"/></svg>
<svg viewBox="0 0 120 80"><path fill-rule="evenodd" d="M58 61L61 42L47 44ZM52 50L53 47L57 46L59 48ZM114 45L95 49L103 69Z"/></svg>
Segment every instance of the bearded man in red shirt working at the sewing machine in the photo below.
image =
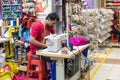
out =
<svg viewBox="0 0 120 80"><path fill-rule="evenodd" d="M37 21L33 24L30 32L30 51L33 54L33 59L39 59L39 57L35 56L36 50L46 48L46 44L44 43L44 37L49 35L50 33L54 34L54 25L59 21L59 17L56 13L50 13L45 18L44 22ZM42 74L43 79L48 80L46 60L42 57L40 59L42 61Z"/></svg>

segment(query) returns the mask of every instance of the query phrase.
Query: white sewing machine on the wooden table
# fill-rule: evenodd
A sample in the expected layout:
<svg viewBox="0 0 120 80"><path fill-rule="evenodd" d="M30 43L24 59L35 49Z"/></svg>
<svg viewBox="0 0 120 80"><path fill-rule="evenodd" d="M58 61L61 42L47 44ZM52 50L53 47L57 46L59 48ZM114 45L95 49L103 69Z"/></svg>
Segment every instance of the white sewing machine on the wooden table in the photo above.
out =
<svg viewBox="0 0 120 80"><path fill-rule="evenodd" d="M51 52L57 52L61 48L62 40L66 39L66 34L51 34L45 37L47 50Z"/></svg>

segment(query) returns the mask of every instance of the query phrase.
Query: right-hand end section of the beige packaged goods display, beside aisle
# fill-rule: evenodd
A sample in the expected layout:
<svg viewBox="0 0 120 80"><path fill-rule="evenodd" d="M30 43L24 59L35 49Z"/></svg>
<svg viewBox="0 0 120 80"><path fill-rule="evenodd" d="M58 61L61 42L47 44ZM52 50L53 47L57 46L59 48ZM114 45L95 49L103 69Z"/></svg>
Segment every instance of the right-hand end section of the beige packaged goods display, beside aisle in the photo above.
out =
<svg viewBox="0 0 120 80"><path fill-rule="evenodd" d="M112 20L114 19L114 12L111 9L100 9L100 13L102 14L102 17L100 18L98 41L99 43L102 43L111 36L110 31L112 31L111 26L113 25Z"/></svg>

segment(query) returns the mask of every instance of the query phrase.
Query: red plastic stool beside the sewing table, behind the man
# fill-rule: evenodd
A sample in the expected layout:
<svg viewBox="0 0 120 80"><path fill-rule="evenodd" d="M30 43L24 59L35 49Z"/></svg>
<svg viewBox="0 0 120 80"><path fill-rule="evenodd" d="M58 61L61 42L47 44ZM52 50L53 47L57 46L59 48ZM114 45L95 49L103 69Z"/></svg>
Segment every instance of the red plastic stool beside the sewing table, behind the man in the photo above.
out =
<svg viewBox="0 0 120 80"><path fill-rule="evenodd" d="M27 80L35 80L36 75L38 80L47 80L47 75L45 75L45 72L43 72L43 70L45 70L45 67L43 67L43 60L32 58L33 55L31 52L29 52L27 64Z"/></svg>

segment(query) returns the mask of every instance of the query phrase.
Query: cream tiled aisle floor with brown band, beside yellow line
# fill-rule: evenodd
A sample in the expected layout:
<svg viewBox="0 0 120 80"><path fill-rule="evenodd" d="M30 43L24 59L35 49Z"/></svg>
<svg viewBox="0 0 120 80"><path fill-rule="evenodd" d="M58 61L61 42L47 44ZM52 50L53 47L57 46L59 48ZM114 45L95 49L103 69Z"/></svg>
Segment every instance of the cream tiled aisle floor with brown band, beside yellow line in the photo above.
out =
<svg viewBox="0 0 120 80"><path fill-rule="evenodd" d="M106 56L106 54L103 55L102 58ZM95 63L95 67L92 68L90 75L93 75L96 71L97 67L100 65L99 62ZM91 80L120 80L120 48L112 49L112 52L98 71L96 71Z"/></svg>

